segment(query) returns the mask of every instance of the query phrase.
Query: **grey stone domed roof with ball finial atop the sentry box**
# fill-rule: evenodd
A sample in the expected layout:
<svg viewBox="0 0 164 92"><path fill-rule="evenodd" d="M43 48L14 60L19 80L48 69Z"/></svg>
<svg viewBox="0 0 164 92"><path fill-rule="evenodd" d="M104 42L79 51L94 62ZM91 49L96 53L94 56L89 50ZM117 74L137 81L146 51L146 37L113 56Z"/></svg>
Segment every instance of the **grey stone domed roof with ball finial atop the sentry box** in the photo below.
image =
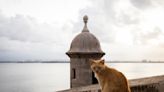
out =
<svg viewBox="0 0 164 92"><path fill-rule="evenodd" d="M84 28L82 32L72 40L70 50L67 54L104 54L101 50L100 42L93 34L89 32L87 28L88 17L84 16L83 20L85 23Z"/></svg>

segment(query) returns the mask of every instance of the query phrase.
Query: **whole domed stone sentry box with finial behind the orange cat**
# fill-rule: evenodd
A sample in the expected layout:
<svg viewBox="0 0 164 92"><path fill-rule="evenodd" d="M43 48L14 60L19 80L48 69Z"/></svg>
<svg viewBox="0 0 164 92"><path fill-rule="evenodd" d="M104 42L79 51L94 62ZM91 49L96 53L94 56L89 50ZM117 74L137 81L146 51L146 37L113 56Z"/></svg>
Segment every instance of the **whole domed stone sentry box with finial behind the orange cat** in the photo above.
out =
<svg viewBox="0 0 164 92"><path fill-rule="evenodd" d="M90 69L89 59L100 59L105 55L98 39L87 28L88 17L84 16L84 28L71 43L66 54L70 57L70 86L81 87L98 83Z"/></svg>

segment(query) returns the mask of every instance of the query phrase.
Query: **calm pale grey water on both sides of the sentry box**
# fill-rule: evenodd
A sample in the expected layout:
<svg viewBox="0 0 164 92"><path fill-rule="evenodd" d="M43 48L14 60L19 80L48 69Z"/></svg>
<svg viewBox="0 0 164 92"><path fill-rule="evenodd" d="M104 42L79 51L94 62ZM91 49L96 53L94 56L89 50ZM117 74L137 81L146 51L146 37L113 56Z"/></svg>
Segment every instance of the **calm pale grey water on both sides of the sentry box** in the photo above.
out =
<svg viewBox="0 0 164 92"><path fill-rule="evenodd" d="M164 75L164 63L108 63L128 79ZM56 92L70 86L69 63L0 63L0 92Z"/></svg>

